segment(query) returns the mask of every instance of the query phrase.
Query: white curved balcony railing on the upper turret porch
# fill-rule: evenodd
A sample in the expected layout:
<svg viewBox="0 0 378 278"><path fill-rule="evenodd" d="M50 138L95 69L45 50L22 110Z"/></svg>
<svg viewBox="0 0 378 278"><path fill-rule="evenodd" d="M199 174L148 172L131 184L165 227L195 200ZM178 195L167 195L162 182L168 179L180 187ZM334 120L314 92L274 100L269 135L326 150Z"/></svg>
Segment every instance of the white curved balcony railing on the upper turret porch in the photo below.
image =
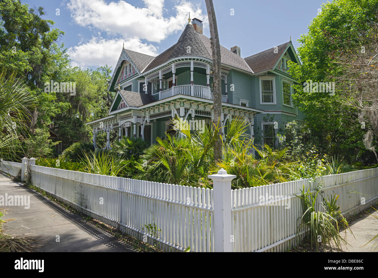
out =
<svg viewBox="0 0 378 278"><path fill-rule="evenodd" d="M192 87L192 88L191 88ZM167 97L184 94L187 96L200 97L201 99L213 99L213 93L210 87L201 85L180 85L169 88L159 93L159 100ZM227 102L227 95L222 95L222 102Z"/></svg>

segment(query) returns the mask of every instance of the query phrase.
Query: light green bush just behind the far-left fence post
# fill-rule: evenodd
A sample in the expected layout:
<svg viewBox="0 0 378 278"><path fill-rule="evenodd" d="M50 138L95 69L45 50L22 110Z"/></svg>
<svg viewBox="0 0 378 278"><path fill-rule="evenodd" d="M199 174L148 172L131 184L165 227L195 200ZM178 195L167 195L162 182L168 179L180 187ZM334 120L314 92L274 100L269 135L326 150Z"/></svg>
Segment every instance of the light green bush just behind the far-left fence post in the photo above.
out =
<svg viewBox="0 0 378 278"><path fill-rule="evenodd" d="M52 147L59 144L60 141L53 142L48 130L37 128L35 134L26 139L24 142L27 157L50 157L53 154Z"/></svg>

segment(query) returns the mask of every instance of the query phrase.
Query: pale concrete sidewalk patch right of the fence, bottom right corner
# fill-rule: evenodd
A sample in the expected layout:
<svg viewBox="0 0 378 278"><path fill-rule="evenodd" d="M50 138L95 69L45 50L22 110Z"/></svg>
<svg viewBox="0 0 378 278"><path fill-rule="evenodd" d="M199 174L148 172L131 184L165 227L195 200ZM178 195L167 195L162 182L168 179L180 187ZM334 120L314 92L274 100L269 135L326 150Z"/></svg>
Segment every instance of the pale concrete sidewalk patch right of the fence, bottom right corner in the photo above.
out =
<svg viewBox="0 0 378 278"><path fill-rule="evenodd" d="M378 216L377 211L370 213ZM346 231L345 240L350 246L344 245L341 252L378 252L378 248L375 249L378 244L378 238L369 242L370 239L378 234L378 219L370 215L364 215L363 217L350 222L349 227L352 230L354 237L349 230ZM341 232L341 236L344 238L345 233ZM369 244L364 246L367 242L369 242Z"/></svg>

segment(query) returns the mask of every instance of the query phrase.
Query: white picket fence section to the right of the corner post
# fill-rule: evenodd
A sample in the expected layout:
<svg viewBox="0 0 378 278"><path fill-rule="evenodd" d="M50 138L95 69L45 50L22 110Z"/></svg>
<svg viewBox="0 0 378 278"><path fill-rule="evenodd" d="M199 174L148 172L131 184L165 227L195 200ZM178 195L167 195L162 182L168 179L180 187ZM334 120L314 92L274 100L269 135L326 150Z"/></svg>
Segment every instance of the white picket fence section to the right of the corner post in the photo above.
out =
<svg viewBox="0 0 378 278"><path fill-rule="evenodd" d="M295 246L297 220L302 216L300 199L295 195L301 195L303 185L306 190L315 190L320 184L324 197L339 195L337 204L344 216L378 202L378 168L322 176L315 181L305 179L232 190L235 252L282 252ZM321 201L318 196L317 208L324 211Z"/></svg>

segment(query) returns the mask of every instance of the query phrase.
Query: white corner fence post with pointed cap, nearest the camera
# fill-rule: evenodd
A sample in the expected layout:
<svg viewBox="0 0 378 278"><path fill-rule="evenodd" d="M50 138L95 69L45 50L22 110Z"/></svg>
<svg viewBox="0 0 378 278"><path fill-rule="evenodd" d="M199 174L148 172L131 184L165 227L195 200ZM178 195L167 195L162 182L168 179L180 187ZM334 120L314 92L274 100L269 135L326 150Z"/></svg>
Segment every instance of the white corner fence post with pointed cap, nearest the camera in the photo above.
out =
<svg viewBox="0 0 378 278"><path fill-rule="evenodd" d="M215 175L209 175L213 180L214 216L214 251L232 252L231 243L231 181L235 175L228 175L223 168Z"/></svg>

